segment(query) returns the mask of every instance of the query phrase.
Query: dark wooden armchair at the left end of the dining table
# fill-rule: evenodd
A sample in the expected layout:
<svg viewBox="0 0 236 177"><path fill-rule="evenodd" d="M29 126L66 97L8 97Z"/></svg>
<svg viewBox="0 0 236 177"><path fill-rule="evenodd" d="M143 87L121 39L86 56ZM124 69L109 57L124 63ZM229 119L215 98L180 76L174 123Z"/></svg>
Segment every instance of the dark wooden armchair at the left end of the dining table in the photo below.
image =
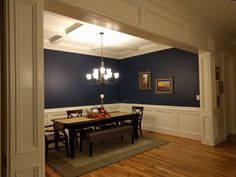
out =
<svg viewBox="0 0 236 177"><path fill-rule="evenodd" d="M65 147L66 155L69 156L69 148L68 148L68 136L65 132L64 128L56 128L53 125L46 125L45 130L45 157L47 159L48 151L51 149L59 150L61 147ZM51 144L54 144L51 145Z"/></svg>

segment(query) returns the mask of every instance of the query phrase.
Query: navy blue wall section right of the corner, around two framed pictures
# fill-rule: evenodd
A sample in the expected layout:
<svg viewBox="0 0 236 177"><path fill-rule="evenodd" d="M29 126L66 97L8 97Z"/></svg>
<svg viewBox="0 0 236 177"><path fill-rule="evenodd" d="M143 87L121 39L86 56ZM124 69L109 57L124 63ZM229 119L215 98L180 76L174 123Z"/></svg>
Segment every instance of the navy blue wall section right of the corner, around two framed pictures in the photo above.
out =
<svg viewBox="0 0 236 177"><path fill-rule="evenodd" d="M121 61L120 95L123 103L143 103L199 107L198 55L179 49L168 49ZM140 90L138 73L151 71L151 90ZM156 94L155 80L173 77L173 95Z"/></svg>

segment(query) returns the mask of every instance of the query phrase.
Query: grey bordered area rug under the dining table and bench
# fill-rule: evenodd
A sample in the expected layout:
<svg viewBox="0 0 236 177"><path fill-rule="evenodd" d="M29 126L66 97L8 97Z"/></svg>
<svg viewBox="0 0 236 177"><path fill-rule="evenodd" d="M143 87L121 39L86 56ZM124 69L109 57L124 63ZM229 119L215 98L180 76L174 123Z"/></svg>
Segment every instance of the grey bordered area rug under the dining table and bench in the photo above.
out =
<svg viewBox="0 0 236 177"><path fill-rule="evenodd" d="M139 136L134 144L131 143L131 137L125 137L123 141L111 139L95 143L93 157L89 157L88 144L84 142L83 152L77 150L74 159L68 158L65 149L61 148L60 151L49 151L46 163L63 177L77 177L167 143L145 136Z"/></svg>

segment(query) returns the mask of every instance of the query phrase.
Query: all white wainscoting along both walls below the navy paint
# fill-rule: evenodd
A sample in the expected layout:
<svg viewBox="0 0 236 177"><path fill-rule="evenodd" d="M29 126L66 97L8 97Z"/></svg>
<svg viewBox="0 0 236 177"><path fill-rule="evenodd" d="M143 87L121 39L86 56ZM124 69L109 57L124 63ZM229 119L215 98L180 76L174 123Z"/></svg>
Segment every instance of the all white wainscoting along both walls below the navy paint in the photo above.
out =
<svg viewBox="0 0 236 177"><path fill-rule="evenodd" d="M153 132L165 133L189 139L201 140L200 108L181 106L160 106L147 104L105 104L108 111L131 112L131 106L144 106L142 128ZM99 105L95 105L99 106ZM67 107L45 110L45 124L52 124L52 119L66 117L66 110L86 109L93 106Z"/></svg>

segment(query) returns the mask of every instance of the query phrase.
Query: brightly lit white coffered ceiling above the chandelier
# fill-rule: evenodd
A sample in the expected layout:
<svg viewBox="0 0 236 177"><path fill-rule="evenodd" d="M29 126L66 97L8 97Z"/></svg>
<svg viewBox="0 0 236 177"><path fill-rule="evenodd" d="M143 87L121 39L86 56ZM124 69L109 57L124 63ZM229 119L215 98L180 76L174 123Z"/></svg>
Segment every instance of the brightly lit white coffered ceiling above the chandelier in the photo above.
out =
<svg viewBox="0 0 236 177"><path fill-rule="evenodd" d="M61 15L44 13L44 48L100 56L100 32L104 32L104 56L110 58L123 59L171 48Z"/></svg>

